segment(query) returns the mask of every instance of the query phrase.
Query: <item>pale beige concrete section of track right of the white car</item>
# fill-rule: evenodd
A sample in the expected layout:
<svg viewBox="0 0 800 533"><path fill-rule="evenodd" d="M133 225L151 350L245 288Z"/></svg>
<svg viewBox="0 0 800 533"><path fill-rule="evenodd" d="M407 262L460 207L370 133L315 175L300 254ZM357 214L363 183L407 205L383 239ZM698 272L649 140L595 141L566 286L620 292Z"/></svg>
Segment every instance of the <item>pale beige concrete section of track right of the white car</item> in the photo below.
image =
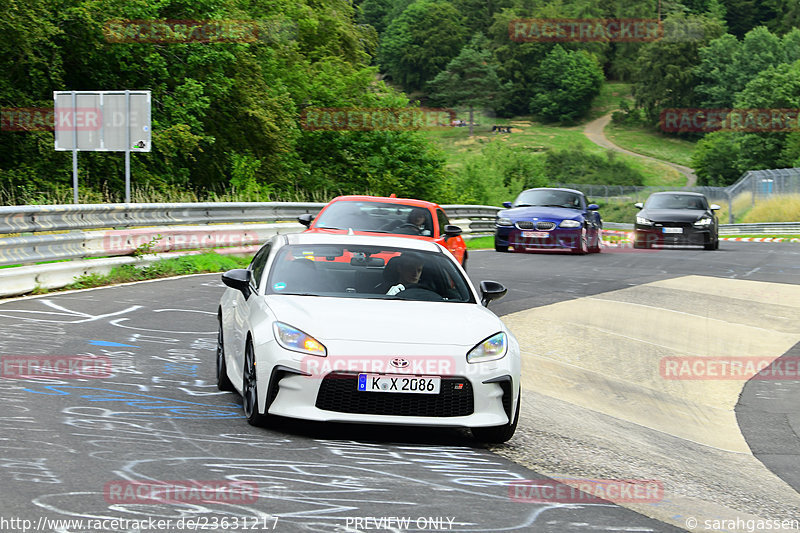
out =
<svg viewBox="0 0 800 533"><path fill-rule="evenodd" d="M705 296L714 297L713 305L700 303ZM767 305L780 306L785 320L775 326L764 320ZM503 317L522 346L523 387L741 453L750 449L733 409L745 382L667 380L659 362L681 356L772 360L800 341L799 319L800 286L702 276Z"/></svg>

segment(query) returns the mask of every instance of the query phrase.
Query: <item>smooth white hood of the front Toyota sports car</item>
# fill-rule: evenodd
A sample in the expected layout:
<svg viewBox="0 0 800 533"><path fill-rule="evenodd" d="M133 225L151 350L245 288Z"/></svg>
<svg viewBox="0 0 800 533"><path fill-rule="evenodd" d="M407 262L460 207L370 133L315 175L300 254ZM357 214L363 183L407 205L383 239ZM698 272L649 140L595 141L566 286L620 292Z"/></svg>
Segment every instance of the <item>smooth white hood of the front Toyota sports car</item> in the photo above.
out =
<svg viewBox="0 0 800 533"><path fill-rule="evenodd" d="M321 342L347 340L471 348L502 331L502 322L481 305L359 298L269 295L277 320Z"/></svg>

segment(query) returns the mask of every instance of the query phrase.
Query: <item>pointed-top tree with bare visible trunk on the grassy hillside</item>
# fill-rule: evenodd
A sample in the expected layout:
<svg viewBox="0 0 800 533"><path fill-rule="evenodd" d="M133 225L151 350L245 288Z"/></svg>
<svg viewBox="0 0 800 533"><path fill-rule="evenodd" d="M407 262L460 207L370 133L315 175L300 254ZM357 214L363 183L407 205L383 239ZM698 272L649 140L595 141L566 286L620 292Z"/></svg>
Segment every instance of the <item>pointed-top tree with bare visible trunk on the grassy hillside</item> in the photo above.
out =
<svg viewBox="0 0 800 533"><path fill-rule="evenodd" d="M428 83L430 97L447 106L469 109L469 134L473 135L474 110L489 107L502 90L492 54L484 48L485 37L477 34L447 68Z"/></svg>

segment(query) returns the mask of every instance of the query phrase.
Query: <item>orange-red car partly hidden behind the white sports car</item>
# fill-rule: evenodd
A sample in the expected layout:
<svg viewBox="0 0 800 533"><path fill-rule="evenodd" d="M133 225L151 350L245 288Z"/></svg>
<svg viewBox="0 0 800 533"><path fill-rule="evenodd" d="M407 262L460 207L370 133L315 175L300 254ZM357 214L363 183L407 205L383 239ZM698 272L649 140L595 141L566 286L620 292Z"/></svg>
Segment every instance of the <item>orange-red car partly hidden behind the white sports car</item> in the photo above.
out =
<svg viewBox="0 0 800 533"><path fill-rule="evenodd" d="M444 210L432 202L384 196L339 196L319 214L300 215L297 220L314 233L356 235L385 233L441 244L461 266L467 264L467 245L461 228L450 224Z"/></svg>

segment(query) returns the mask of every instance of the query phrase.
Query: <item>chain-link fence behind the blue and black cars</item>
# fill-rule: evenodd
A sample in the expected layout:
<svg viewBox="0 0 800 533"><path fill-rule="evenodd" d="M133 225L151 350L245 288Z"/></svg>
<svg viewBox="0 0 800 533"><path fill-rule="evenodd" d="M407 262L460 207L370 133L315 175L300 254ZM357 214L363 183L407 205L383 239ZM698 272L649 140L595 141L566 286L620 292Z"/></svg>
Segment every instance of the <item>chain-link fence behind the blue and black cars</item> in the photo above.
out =
<svg viewBox="0 0 800 533"><path fill-rule="evenodd" d="M555 186L577 189L589 199L602 198L606 201L622 200L632 203L644 202L650 194L659 191L699 192L704 194L709 202L727 207L727 222L733 224L738 214L753 207L758 200L771 196L800 194L800 168L750 170L736 183L727 187L640 187L580 183L563 183Z"/></svg>

